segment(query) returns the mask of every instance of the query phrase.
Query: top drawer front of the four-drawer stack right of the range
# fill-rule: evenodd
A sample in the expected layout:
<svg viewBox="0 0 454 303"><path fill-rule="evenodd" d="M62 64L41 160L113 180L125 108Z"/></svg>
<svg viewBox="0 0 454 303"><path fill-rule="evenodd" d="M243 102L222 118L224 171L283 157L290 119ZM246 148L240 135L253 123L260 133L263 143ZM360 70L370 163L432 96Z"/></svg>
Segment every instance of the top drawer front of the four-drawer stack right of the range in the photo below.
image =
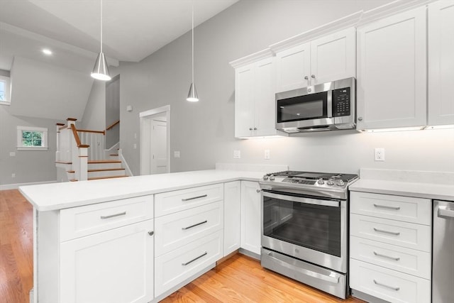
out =
<svg viewBox="0 0 454 303"><path fill-rule="evenodd" d="M431 225L432 201L414 197L350 192L350 212L384 219Z"/></svg>

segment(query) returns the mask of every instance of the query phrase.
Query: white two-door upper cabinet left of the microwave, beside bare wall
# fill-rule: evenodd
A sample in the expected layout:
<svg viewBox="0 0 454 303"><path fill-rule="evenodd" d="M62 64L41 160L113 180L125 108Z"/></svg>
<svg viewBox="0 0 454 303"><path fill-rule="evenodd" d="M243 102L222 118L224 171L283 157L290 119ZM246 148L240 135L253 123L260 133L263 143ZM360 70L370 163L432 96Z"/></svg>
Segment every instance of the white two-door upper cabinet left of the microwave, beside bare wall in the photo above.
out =
<svg viewBox="0 0 454 303"><path fill-rule="evenodd" d="M270 54L244 66L238 67L236 62L231 65L236 67L236 138L278 135L275 128L275 57Z"/></svg>

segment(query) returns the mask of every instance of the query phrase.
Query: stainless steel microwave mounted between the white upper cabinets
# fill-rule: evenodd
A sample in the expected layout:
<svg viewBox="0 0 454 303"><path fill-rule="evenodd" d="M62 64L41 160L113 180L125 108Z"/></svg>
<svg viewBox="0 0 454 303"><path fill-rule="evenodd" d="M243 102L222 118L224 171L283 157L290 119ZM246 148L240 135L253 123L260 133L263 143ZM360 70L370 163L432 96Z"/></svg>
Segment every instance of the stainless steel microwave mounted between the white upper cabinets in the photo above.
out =
<svg viewBox="0 0 454 303"><path fill-rule="evenodd" d="M276 94L276 128L286 133L356 127L356 79L347 78Z"/></svg>

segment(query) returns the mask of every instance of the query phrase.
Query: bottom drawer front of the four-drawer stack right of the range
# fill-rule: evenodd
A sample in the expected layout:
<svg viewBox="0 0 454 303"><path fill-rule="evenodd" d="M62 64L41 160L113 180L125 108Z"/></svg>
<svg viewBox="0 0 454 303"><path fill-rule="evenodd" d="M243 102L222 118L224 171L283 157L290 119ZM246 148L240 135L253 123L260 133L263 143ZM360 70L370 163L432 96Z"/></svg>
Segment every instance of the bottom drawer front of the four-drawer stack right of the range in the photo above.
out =
<svg viewBox="0 0 454 303"><path fill-rule="evenodd" d="M350 260L350 287L389 302L431 302L431 281Z"/></svg>

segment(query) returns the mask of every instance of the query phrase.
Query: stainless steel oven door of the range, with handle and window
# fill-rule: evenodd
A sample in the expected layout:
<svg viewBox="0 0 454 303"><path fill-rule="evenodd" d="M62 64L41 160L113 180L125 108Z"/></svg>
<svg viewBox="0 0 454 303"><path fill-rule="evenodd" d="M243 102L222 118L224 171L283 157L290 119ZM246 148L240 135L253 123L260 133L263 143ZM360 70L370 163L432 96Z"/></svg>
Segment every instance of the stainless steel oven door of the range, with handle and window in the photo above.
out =
<svg viewBox="0 0 454 303"><path fill-rule="evenodd" d="M340 199L262 190L262 247L347 272L347 209Z"/></svg>

